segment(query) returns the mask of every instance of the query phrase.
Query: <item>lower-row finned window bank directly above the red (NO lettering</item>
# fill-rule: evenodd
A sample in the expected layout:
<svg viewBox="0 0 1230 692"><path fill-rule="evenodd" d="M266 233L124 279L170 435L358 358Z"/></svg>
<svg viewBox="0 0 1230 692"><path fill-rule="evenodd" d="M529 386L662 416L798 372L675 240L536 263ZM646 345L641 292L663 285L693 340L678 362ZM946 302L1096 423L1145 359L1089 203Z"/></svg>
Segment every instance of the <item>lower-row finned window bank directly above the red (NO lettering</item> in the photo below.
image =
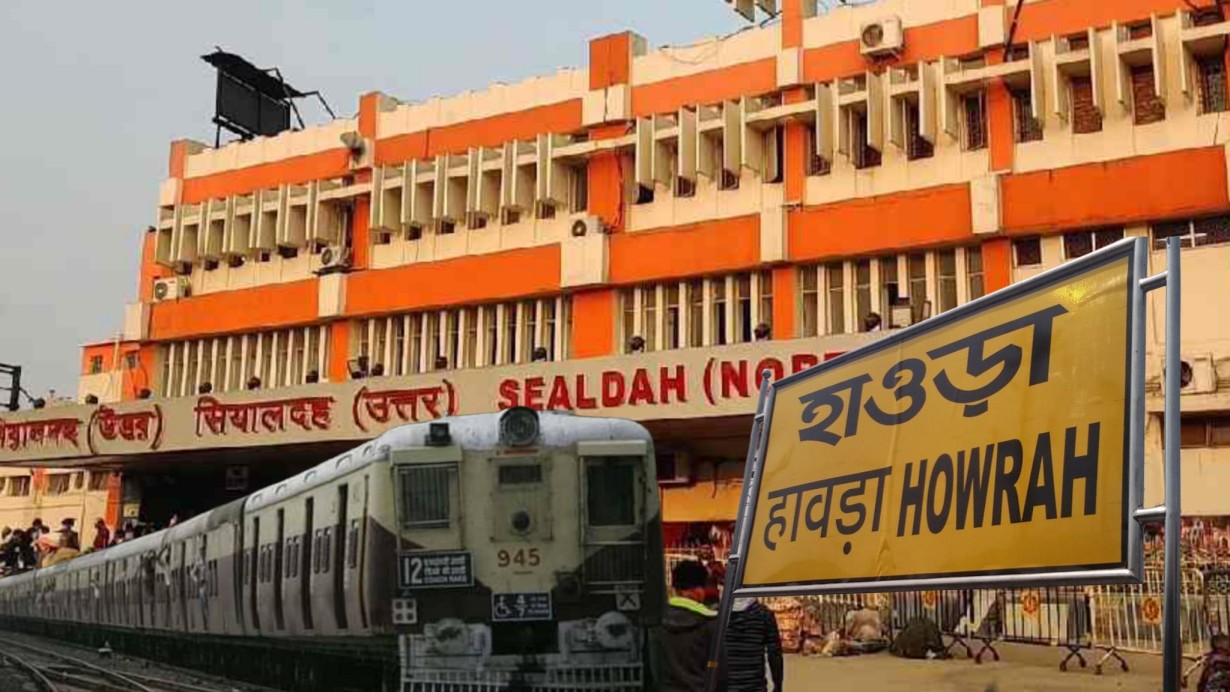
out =
<svg viewBox="0 0 1230 692"><path fill-rule="evenodd" d="M619 313L620 353L749 343L772 327L772 273L629 286Z"/></svg>

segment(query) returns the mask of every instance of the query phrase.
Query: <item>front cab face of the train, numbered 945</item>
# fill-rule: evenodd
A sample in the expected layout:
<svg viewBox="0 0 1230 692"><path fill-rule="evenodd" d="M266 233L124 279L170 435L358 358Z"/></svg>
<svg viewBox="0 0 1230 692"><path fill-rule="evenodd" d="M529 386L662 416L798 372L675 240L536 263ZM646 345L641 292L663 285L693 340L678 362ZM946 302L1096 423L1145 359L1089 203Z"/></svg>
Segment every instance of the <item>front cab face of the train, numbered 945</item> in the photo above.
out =
<svg viewBox="0 0 1230 692"><path fill-rule="evenodd" d="M408 690L643 688L665 597L649 434L528 408L403 430L389 461Z"/></svg>

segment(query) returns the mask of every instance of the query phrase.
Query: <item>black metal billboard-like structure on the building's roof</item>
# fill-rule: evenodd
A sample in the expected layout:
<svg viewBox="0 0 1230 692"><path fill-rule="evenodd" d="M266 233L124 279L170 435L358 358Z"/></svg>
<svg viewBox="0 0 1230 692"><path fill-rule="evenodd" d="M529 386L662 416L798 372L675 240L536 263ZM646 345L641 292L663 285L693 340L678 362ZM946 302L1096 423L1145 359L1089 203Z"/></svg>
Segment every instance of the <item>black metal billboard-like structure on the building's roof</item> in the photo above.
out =
<svg viewBox="0 0 1230 692"><path fill-rule="evenodd" d="M303 129L304 120L295 101L309 96L320 100L331 118L337 117L319 91L300 91L290 86L277 68L257 68L242 55L221 48L215 48L200 59L218 70L213 120L218 129L214 146L221 144L224 129L242 140L273 136L289 130L292 114L298 123L296 129Z"/></svg>

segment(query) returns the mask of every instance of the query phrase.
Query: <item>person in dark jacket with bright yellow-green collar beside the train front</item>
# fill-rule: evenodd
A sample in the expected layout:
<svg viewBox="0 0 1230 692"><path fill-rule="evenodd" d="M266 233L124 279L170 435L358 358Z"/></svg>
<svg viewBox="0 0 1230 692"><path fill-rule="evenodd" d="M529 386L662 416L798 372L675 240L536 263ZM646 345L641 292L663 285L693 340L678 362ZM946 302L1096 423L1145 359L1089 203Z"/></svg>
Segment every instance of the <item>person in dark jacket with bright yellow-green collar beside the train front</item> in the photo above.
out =
<svg viewBox="0 0 1230 692"><path fill-rule="evenodd" d="M662 686L664 692L699 692L705 687L708 647L717 631L717 613L705 606L708 572L688 559L670 570L674 596L662 619Z"/></svg>

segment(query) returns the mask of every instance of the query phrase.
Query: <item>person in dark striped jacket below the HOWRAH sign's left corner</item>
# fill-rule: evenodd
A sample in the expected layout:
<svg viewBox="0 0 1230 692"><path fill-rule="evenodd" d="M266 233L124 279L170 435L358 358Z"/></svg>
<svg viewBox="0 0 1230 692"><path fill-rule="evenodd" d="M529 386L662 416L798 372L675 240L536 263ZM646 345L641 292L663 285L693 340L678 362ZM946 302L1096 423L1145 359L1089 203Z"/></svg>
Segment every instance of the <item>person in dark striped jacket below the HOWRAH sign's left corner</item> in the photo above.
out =
<svg viewBox="0 0 1230 692"><path fill-rule="evenodd" d="M768 692L766 658L774 692L781 692L784 666L777 617L755 599L736 599L722 659L727 692Z"/></svg>

